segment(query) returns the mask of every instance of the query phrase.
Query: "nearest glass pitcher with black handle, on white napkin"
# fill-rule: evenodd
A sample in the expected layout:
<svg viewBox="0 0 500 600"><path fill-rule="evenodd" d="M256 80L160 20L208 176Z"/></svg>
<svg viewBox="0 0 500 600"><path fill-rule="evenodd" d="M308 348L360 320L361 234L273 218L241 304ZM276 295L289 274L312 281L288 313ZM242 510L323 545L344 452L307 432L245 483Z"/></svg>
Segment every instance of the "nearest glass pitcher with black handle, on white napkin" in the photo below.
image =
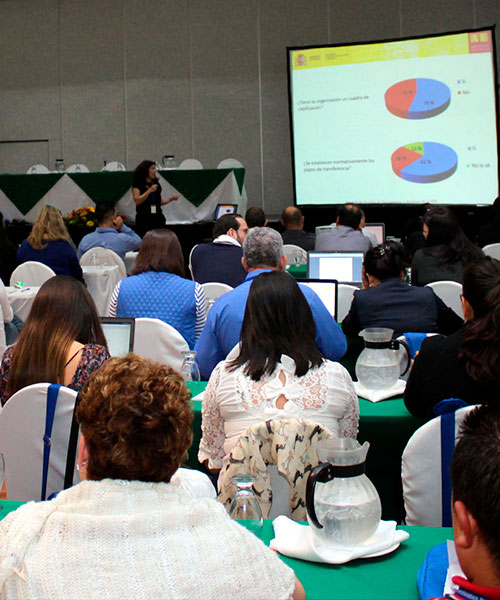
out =
<svg viewBox="0 0 500 600"><path fill-rule="evenodd" d="M316 547L360 544L377 529L382 509L365 475L369 447L352 438L321 442L322 463L311 471L306 487L307 520Z"/></svg>

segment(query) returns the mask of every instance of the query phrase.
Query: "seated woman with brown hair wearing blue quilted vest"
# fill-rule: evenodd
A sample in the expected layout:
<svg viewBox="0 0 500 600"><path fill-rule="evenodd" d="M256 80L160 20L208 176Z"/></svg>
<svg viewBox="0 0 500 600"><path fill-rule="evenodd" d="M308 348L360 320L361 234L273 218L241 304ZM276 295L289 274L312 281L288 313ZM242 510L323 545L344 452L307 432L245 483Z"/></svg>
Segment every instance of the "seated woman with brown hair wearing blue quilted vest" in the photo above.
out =
<svg viewBox="0 0 500 600"><path fill-rule="evenodd" d="M205 324L205 292L199 283L186 279L181 245L173 231L146 233L131 276L116 284L109 314L161 319L193 348Z"/></svg>

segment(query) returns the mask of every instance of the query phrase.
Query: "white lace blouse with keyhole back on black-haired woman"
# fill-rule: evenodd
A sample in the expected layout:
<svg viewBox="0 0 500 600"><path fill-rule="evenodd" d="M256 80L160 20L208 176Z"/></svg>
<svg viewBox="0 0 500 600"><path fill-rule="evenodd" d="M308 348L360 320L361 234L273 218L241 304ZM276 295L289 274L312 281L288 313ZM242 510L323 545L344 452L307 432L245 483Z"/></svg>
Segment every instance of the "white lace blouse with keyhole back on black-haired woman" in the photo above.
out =
<svg viewBox="0 0 500 600"><path fill-rule="evenodd" d="M230 371L228 365L222 361L213 370L202 404L198 460L208 459L210 468L222 468L240 435L269 419L307 419L339 437L357 436L358 397L339 363L325 360L298 377L294 360L283 355L272 375L260 381L245 375L243 366ZM280 396L287 400L282 409L277 407Z"/></svg>

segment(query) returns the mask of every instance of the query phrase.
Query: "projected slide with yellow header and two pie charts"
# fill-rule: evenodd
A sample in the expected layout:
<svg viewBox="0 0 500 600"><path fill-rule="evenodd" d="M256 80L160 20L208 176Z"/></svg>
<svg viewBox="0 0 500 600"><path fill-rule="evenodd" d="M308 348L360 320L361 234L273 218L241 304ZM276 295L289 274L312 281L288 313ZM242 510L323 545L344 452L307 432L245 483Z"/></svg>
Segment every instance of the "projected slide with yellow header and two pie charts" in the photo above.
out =
<svg viewBox="0 0 500 600"><path fill-rule="evenodd" d="M493 31L289 48L296 203L491 204Z"/></svg>

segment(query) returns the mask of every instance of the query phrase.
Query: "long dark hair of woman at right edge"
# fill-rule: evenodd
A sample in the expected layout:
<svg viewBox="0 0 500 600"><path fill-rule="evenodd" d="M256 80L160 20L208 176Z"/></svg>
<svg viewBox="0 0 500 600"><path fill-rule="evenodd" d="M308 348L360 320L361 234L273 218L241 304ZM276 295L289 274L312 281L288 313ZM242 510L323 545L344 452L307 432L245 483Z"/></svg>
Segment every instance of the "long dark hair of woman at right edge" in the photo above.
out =
<svg viewBox="0 0 500 600"><path fill-rule="evenodd" d="M469 265L464 270L463 294L474 318L465 326L459 356L469 377L495 389L500 400L500 261L486 256Z"/></svg>

